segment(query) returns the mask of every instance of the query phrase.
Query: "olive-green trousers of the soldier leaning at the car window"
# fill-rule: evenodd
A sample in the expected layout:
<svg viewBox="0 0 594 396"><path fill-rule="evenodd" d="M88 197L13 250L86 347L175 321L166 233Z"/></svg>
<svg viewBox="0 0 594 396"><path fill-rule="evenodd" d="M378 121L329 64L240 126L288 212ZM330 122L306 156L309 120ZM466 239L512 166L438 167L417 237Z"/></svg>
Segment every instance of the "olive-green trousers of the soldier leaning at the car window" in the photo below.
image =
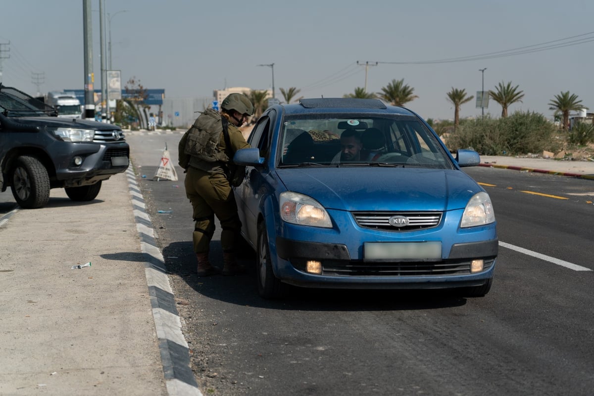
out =
<svg viewBox="0 0 594 396"><path fill-rule="evenodd" d="M214 216L219 219L223 251L233 251L241 231L235 196L223 174L208 174L189 167L185 177L186 196L194 209L192 241L195 253L207 253L214 234Z"/></svg>

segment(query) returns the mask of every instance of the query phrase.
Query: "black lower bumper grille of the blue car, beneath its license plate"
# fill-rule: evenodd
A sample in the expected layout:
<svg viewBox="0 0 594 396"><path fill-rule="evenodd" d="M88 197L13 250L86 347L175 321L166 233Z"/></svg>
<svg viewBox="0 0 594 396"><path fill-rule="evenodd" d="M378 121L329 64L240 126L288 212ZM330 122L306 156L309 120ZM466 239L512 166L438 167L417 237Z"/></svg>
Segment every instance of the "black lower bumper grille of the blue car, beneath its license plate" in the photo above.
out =
<svg viewBox="0 0 594 396"><path fill-rule="evenodd" d="M488 270L495 259L485 260ZM364 263L363 261L323 261L326 276L441 276L470 274L470 261Z"/></svg>

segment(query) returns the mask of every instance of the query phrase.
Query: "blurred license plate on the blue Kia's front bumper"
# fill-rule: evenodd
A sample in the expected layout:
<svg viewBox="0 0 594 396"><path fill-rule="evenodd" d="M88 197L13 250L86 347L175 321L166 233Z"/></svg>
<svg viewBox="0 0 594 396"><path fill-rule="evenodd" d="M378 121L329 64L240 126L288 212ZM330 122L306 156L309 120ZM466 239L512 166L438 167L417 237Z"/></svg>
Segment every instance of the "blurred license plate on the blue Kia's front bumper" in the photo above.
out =
<svg viewBox="0 0 594 396"><path fill-rule="evenodd" d="M441 242L365 242L365 260L441 258Z"/></svg>

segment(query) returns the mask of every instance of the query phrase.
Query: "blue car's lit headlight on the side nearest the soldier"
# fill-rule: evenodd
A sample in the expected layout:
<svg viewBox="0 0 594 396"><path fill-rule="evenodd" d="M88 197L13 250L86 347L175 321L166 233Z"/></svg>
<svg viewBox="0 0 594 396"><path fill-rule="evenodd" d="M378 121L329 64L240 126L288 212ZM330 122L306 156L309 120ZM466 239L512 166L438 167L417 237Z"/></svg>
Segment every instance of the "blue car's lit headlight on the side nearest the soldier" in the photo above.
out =
<svg viewBox="0 0 594 396"><path fill-rule="evenodd" d="M285 191L280 194L280 218L287 223L332 228L330 215L315 199Z"/></svg>

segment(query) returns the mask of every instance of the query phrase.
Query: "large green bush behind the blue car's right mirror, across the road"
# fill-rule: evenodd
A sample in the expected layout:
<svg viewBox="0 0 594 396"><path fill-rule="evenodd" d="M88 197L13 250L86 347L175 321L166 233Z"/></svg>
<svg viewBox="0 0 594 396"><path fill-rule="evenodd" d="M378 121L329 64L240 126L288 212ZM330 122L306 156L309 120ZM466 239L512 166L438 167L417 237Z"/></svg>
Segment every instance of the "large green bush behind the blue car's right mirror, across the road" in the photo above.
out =
<svg viewBox="0 0 594 396"><path fill-rule="evenodd" d="M554 138L555 126L545 116L516 111L510 117L490 116L460 123L447 138L450 150L470 148L482 155L519 155L557 151L560 142Z"/></svg>

